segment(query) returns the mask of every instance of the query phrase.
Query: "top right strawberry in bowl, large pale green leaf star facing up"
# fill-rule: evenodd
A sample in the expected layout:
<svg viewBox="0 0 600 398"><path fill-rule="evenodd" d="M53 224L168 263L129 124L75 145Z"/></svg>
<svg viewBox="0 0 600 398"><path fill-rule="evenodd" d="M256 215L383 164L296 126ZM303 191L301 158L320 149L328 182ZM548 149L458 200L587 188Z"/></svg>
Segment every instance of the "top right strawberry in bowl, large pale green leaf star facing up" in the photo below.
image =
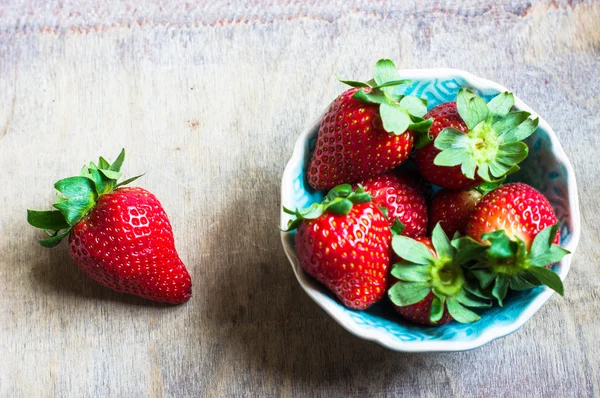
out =
<svg viewBox="0 0 600 398"><path fill-rule="evenodd" d="M462 88L456 103L433 108L425 118L433 121L429 139L419 142L415 161L427 181L442 188L468 190L485 182L502 181L518 170L528 154L521 142L537 128L528 112L510 112L511 93L488 104Z"/></svg>

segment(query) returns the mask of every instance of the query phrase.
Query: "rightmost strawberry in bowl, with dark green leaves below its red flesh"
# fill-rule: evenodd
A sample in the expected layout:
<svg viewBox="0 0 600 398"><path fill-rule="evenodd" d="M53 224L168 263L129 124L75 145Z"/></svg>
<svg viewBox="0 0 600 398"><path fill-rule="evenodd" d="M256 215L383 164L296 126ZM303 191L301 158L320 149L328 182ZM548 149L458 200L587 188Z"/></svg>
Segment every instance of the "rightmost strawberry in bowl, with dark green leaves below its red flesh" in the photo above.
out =
<svg viewBox="0 0 600 398"><path fill-rule="evenodd" d="M548 268L569 252L558 246L558 220L548 199L531 186L506 184L485 195L470 216L466 234L453 244L484 250L469 268L500 305L509 288L546 285L563 294L562 281Z"/></svg>

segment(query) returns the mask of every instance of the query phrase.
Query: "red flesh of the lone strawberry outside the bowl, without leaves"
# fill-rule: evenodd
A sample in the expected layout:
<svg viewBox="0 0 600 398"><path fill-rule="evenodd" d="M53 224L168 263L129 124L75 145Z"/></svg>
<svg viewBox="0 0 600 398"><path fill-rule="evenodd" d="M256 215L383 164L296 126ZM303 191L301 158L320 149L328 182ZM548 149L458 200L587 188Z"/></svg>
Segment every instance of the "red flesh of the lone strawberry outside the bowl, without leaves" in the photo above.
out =
<svg viewBox="0 0 600 398"><path fill-rule="evenodd" d="M192 281L175 250L169 219L142 188L102 195L69 235L75 264L100 284L154 301L180 304Z"/></svg>

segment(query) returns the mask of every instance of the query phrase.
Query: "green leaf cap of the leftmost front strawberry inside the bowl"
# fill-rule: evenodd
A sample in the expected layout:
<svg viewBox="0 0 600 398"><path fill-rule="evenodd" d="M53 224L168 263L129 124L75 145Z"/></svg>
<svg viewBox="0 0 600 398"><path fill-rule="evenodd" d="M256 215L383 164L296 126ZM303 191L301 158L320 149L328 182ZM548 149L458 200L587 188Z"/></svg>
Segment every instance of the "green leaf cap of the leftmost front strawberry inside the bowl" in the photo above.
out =
<svg viewBox="0 0 600 398"><path fill-rule="evenodd" d="M288 222L285 231L293 231L300 226L302 220L314 220L321 217L325 212L346 215L350 213L355 204L368 203L371 199L373 197L366 193L360 185L354 191L350 184L338 185L325 195L321 203L313 203L309 207L296 209L296 211L284 207L283 211L285 213L295 216L295 219Z"/></svg>

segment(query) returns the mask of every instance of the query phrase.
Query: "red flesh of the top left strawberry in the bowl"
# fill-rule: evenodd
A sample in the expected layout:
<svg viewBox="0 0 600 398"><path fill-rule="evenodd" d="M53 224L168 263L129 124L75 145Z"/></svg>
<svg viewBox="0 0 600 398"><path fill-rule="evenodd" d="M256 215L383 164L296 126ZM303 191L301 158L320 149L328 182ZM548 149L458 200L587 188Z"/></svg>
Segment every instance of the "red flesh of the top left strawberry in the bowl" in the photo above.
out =
<svg viewBox="0 0 600 398"><path fill-rule="evenodd" d="M321 121L307 171L308 183L314 189L329 189L383 173L404 162L412 151L413 133L385 131L379 105L352 98L356 91L352 88L336 98Z"/></svg>

